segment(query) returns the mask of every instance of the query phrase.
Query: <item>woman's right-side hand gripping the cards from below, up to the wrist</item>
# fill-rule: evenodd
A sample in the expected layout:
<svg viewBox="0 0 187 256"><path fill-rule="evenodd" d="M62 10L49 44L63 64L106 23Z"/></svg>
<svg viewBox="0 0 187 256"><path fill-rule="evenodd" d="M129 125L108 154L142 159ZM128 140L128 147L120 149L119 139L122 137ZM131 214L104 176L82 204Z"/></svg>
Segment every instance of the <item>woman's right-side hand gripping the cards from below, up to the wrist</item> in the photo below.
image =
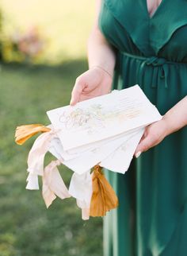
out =
<svg viewBox="0 0 187 256"><path fill-rule="evenodd" d="M168 134L168 124L164 118L147 126L139 145L135 149L135 157L139 157L140 153L158 145Z"/></svg>

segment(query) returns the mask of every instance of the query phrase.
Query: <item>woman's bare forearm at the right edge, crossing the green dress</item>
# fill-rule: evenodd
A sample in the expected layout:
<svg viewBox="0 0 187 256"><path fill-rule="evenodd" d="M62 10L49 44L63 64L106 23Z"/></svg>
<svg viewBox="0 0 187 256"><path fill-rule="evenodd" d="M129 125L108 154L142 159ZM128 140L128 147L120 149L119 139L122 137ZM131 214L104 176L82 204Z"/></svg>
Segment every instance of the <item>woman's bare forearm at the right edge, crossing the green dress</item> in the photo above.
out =
<svg viewBox="0 0 187 256"><path fill-rule="evenodd" d="M162 119L167 123L166 135L187 126L187 96L167 111Z"/></svg>

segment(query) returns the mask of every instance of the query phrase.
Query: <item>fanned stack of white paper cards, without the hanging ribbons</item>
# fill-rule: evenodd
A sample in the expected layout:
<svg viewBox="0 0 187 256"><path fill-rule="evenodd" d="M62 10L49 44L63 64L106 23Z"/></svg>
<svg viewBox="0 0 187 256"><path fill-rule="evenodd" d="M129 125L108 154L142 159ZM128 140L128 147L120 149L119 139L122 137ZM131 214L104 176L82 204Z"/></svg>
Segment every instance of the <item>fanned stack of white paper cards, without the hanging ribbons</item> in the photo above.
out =
<svg viewBox="0 0 187 256"><path fill-rule="evenodd" d="M162 118L138 85L47 114L58 135L50 152L79 174L94 165L125 173L144 127Z"/></svg>

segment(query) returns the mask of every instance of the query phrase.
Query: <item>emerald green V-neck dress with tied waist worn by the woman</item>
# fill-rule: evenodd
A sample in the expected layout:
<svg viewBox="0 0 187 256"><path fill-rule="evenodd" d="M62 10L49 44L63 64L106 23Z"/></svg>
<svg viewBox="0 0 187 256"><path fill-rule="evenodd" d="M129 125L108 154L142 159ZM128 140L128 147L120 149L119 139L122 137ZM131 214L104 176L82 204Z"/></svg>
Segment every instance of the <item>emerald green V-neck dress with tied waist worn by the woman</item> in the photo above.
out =
<svg viewBox="0 0 187 256"><path fill-rule="evenodd" d="M138 83L161 114L187 95L186 0L152 17L147 0L103 0L99 26L116 51L113 88ZM186 256L187 128L106 175L120 205L104 217L105 256Z"/></svg>

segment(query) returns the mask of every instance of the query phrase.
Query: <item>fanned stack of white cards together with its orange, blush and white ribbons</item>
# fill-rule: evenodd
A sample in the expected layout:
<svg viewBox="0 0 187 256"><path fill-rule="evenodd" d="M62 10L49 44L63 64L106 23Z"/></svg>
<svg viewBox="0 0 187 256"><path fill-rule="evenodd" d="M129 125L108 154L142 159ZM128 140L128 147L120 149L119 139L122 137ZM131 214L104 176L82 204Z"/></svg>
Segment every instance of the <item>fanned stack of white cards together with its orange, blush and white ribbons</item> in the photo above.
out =
<svg viewBox="0 0 187 256"><path fill-rule="evenodd" d="M47 207L56 196L61 199L74 196L78 207L82 208L82 219L89 219L90 215L105 215L106 211L117 206L116 196L102 173L96 169L90 174L90 169L101 166L116 173L125 173L145 126L162 116L138 85L77 103L74 107L60 107L47 114L52 122L48 127L17 127L18 144L38 131L43 132L29 152L26 188L39 189L37 176L42 176ZM44 168L44 156L48 151L57 160ZM57 169L60 164L74 171L69 189ZM109 200L113 198L109 205L105 199L101 202L100 212L97 204L103 196L93 188L93 184L98 183L93 182L95 179L102 184L102 195Z"/></svg>

